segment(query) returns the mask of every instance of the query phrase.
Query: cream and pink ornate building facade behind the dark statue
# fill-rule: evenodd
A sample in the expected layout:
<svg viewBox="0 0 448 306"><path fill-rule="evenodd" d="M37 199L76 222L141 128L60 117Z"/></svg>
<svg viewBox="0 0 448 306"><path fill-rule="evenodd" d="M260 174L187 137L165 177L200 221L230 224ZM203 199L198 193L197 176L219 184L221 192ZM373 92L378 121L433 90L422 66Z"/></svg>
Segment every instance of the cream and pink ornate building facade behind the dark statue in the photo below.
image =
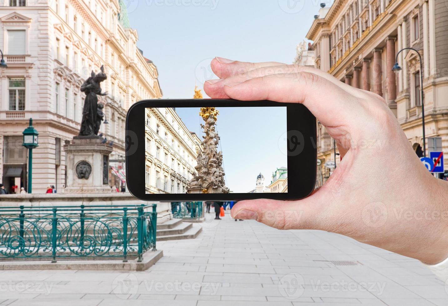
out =
<svg viewBox="0 0 448 306"><path fill-rule="evenodd" d="M158 72L138 49L121 0L0 0L0 183L27 189L22 131L33 118L39 147L33 192L65 187L63 145L78 135L85 95L80 87L104 65L108 95L100 133L113 141L111 165L122 166L125 115L141 99L160 98ZM114 160L116 161L114 163ZM117 171L114 171L115 173ZM20 186L19 186L20 187ZM20 189L20 188L19 188Z"/></svg>

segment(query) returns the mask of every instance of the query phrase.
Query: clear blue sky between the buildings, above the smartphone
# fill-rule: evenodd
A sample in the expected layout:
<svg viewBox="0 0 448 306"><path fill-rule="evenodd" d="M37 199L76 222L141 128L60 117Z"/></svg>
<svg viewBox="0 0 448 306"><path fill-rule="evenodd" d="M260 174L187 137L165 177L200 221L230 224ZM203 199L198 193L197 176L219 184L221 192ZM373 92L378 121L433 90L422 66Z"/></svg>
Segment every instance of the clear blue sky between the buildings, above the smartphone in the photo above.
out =
<svg viewBox="0 0 448 306"><path fill-rule="evenodd" d="M332 1L124 0L138 47L159 70L164 98L192 98L195 82L202 89L215 78L209 68L215 56L291 64L321 2Z"/></svg>

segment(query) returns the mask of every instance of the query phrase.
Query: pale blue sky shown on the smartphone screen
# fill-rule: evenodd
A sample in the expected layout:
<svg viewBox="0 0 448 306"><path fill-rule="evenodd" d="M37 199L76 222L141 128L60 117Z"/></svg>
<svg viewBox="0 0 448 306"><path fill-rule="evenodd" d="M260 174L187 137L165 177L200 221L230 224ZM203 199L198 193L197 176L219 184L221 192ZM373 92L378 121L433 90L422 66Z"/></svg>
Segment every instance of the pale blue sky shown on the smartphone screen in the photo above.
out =
<svg viewBox="0 0 448 306"><path fill-rule="evenodd" d="M276 168L287 167L286 107L220 107L215 130L221 137L218 151L223 152L227 187L235 193L255 188L258 174L263 173L266 185ZM205 135L200 123L199 108L176 108L186 127L199 139ZM283 148L280 150L280 147Z"/></svg>

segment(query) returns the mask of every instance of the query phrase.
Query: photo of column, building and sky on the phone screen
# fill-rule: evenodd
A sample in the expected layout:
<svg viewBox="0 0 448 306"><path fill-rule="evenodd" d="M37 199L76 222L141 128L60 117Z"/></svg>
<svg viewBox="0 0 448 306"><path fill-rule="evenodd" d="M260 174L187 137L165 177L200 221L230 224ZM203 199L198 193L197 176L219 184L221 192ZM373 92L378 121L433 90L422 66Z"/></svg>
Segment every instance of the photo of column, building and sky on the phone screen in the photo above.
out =
<svg viewBox="0 0 448 306"><path fill-rule="evenodd" d="M145 109L146 194L288 192L286 107Z"/></svg>

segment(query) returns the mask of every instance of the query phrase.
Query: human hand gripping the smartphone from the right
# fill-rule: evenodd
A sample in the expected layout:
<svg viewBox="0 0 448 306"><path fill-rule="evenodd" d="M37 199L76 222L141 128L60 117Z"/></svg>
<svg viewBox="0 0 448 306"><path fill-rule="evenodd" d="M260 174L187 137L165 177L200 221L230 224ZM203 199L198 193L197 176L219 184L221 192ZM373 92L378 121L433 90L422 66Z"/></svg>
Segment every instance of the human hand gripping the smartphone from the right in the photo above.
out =
<svg viewBox="0 0 448 306"><path fill-rule="evenodd" d="M383 98L297 65L215 58L211 68L220 79L206 81L208 96L302 103L343 157L308 198L241 201L233 218L326 230L430 264L448 257L448 182L423 166Z"/></svg>

